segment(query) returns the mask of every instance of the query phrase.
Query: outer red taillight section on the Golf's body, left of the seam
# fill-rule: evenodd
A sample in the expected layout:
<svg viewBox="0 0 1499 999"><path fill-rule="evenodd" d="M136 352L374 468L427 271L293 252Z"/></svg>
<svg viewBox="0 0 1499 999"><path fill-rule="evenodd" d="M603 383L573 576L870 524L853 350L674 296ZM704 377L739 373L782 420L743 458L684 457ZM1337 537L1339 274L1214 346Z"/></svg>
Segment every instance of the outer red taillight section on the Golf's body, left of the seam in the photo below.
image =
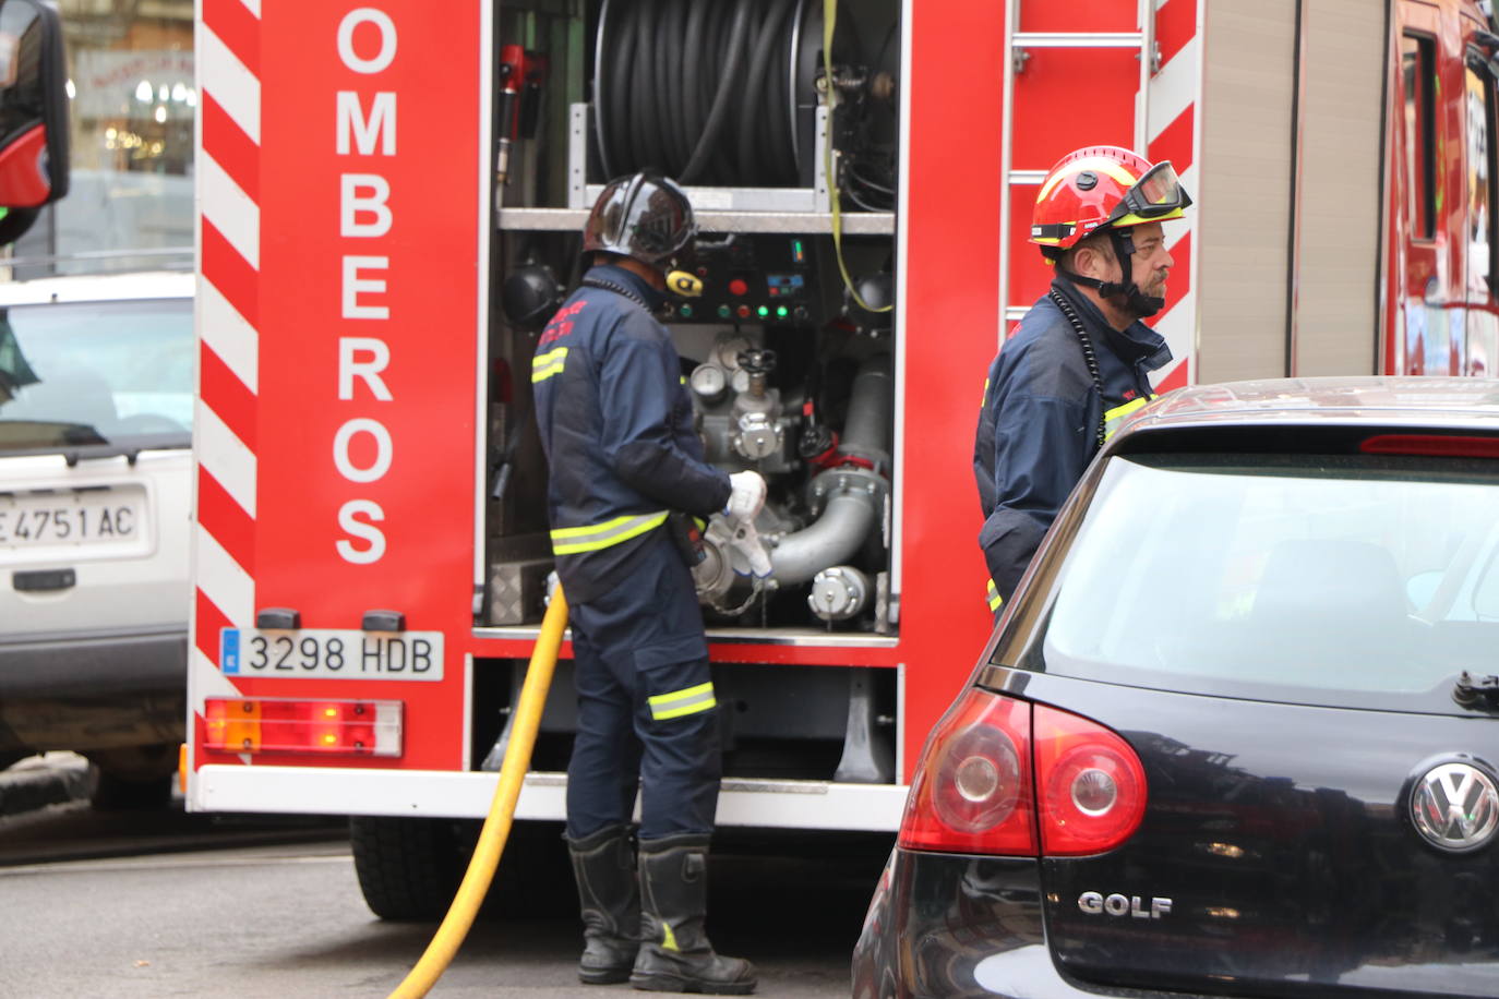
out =
<svg viewBox="0 0 1499 999"><path fill-rule="evenodd" d="M970 689L926 741L898 843L1034 857L1030 755L1030 704Z"/></svg>

